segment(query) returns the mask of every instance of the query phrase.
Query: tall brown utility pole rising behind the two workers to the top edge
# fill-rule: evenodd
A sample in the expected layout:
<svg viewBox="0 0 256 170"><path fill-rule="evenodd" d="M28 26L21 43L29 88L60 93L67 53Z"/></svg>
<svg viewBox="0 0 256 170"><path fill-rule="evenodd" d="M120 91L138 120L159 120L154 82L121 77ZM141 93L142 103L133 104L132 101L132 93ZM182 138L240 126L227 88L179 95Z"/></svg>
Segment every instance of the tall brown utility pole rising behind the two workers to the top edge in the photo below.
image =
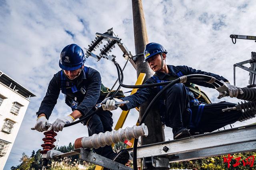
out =
<svg viewBox="0 0 256 170"><path fill-rule="evenodd" d="M146 44L148 43L148 34L146 30L142 0L132 0L132 14L135 52L136 55L139 55L136 59L137 77L140 73L146 73L145 80L147 80L153 75L154 72L150 69L148 63L143 63L143 51ZM147 101L140 106L140 118L144 114L144 111L149 103L150 102ZM156 109L152 109L152 111L148 113L148 116L146 117L144 123L148 127L148 137L141 138L142 145L164 141L164 129L160 120L160 114L158 113L158 111L156 111Z"/></svg>

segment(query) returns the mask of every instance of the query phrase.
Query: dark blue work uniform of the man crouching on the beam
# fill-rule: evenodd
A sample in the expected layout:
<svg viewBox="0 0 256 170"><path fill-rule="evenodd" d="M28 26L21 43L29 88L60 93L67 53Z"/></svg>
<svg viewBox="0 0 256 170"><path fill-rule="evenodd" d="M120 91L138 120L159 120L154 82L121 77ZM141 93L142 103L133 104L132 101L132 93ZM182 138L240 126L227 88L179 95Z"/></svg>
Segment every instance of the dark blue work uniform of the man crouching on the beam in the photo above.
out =
<svg viewBox="0 0 256 170"><path fill-rule="evenodd" d="M186 65L167 65L169 74L156 72L150 77L145 84L159 83L170 81L170 77L174 79L183 75L203 74L212 76L218 80L228 81L220 75L209 73L201 70L196 70ZM212 84L205 82L194 82L196 85L214 88ZM121 98L124 101L129 101L121 107L123 110L132 109L141 105L148 99L152 99L163 87L140 88L138 91L128 97ZM178 128L189 128L196 132L212 132L218 128L236 122L242 115L240 111L230 111L222 113L222 109L234 107L236 104L228 102L220 102L206 104L194 102L195 98L186 84L177 83L166 90L155 105L160 109L162 123L167 127L173 128L173 132Z"/></svg>

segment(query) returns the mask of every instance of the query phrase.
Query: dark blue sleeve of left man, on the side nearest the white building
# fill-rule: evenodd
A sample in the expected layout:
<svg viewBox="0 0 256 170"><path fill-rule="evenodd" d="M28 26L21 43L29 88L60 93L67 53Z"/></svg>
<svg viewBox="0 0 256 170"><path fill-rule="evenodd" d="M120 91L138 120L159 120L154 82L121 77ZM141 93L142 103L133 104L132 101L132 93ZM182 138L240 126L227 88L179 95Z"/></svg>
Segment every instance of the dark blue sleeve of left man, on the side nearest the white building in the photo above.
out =
<svg viewBox="0 0 256 170"><path fill-rule="evenodd" d="M49 119L50 115L52 114L52 110L57 103L57 99L60 95L60 87L58 85L58 78L57 74L51 79L46 95L41 102L41 105L38 109L36 115L40 115L44 113L46 115L46 119Z"/></svg>

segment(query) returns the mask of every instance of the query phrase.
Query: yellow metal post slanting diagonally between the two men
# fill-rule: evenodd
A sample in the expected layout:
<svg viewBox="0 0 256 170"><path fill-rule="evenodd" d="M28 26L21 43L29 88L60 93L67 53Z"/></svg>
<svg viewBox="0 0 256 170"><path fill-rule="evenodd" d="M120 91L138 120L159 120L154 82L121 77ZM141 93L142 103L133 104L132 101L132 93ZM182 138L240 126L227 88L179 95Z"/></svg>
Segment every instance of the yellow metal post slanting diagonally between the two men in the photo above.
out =
<svg viewBox="0 0 256 170"><path fill-rule="evenodd" d="M139 77L138 77L138 79L137 79L135 85L142 85L142 83L143 83L145 77L146 77L146 74L145 74L145 73L140 73L140 75L139 75ZM136 93L137 90L138 90L138 89L132 89L132 92L131 92L130 95ZM129 112L130 112L130 110L128 110L128 111L122 111L122 113L121 113L121 115L120 115L120 117L119 117L119 119L118 119L118 121L117 121L117 123L116 123L116 126L115 126L115 128L114 128L115 130L118 130L119 128L122 128L122 127L123 127L124 122L125 122L126 117L128 116L128 113L129 113ZM138 123L136 123L136 125L138 125ZM134 138L133 138L132 140L130 140L130 141L132 141L132 147L133 147L133 140L134 140ZM114 146L114 143L112 144L112 147L113 147L113 146ZM128 146L127 146L127 148L128 148ZM96 168L95 168L95 170L103 170L103 168L104 168L104 167L97 165Z"/></svg>

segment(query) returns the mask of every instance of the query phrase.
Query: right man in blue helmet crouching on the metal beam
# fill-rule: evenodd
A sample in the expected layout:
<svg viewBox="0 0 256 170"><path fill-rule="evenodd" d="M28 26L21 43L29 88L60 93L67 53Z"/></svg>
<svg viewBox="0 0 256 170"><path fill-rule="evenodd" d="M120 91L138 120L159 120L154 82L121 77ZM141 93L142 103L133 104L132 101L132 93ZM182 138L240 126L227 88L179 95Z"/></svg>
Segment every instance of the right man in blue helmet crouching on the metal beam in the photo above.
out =
<svg viewBox="0 0 256 170"><path fill-rule="evenodd" d="M242 89L230 85L224 77L196 70L186 65L167 65L166 49L159 43L148 43L144 50L144 62L147 62L155 74L146 80L147 84L172 81L183 75L204 74L212 76L228 85L230 97L237 97L242 94ZM196 82L196 85L214 88L213 85L205 82ZM230 111L222 113L226 107L234 107L236 104L228 102L211 103L207 95L192 83L177 83L166 90L164 97L155 105L160 109L162 123L172 128L174 139L188 137L191 134L212 132L218 128L236 122L242 115L241 111ZM132 109L152 99L163 88L150 87L140 88L128 97L108 100L103 105L104 110L114 110L120 107L123 110ZM116 106L116 101L129 101L126 105Z"/></svg>

